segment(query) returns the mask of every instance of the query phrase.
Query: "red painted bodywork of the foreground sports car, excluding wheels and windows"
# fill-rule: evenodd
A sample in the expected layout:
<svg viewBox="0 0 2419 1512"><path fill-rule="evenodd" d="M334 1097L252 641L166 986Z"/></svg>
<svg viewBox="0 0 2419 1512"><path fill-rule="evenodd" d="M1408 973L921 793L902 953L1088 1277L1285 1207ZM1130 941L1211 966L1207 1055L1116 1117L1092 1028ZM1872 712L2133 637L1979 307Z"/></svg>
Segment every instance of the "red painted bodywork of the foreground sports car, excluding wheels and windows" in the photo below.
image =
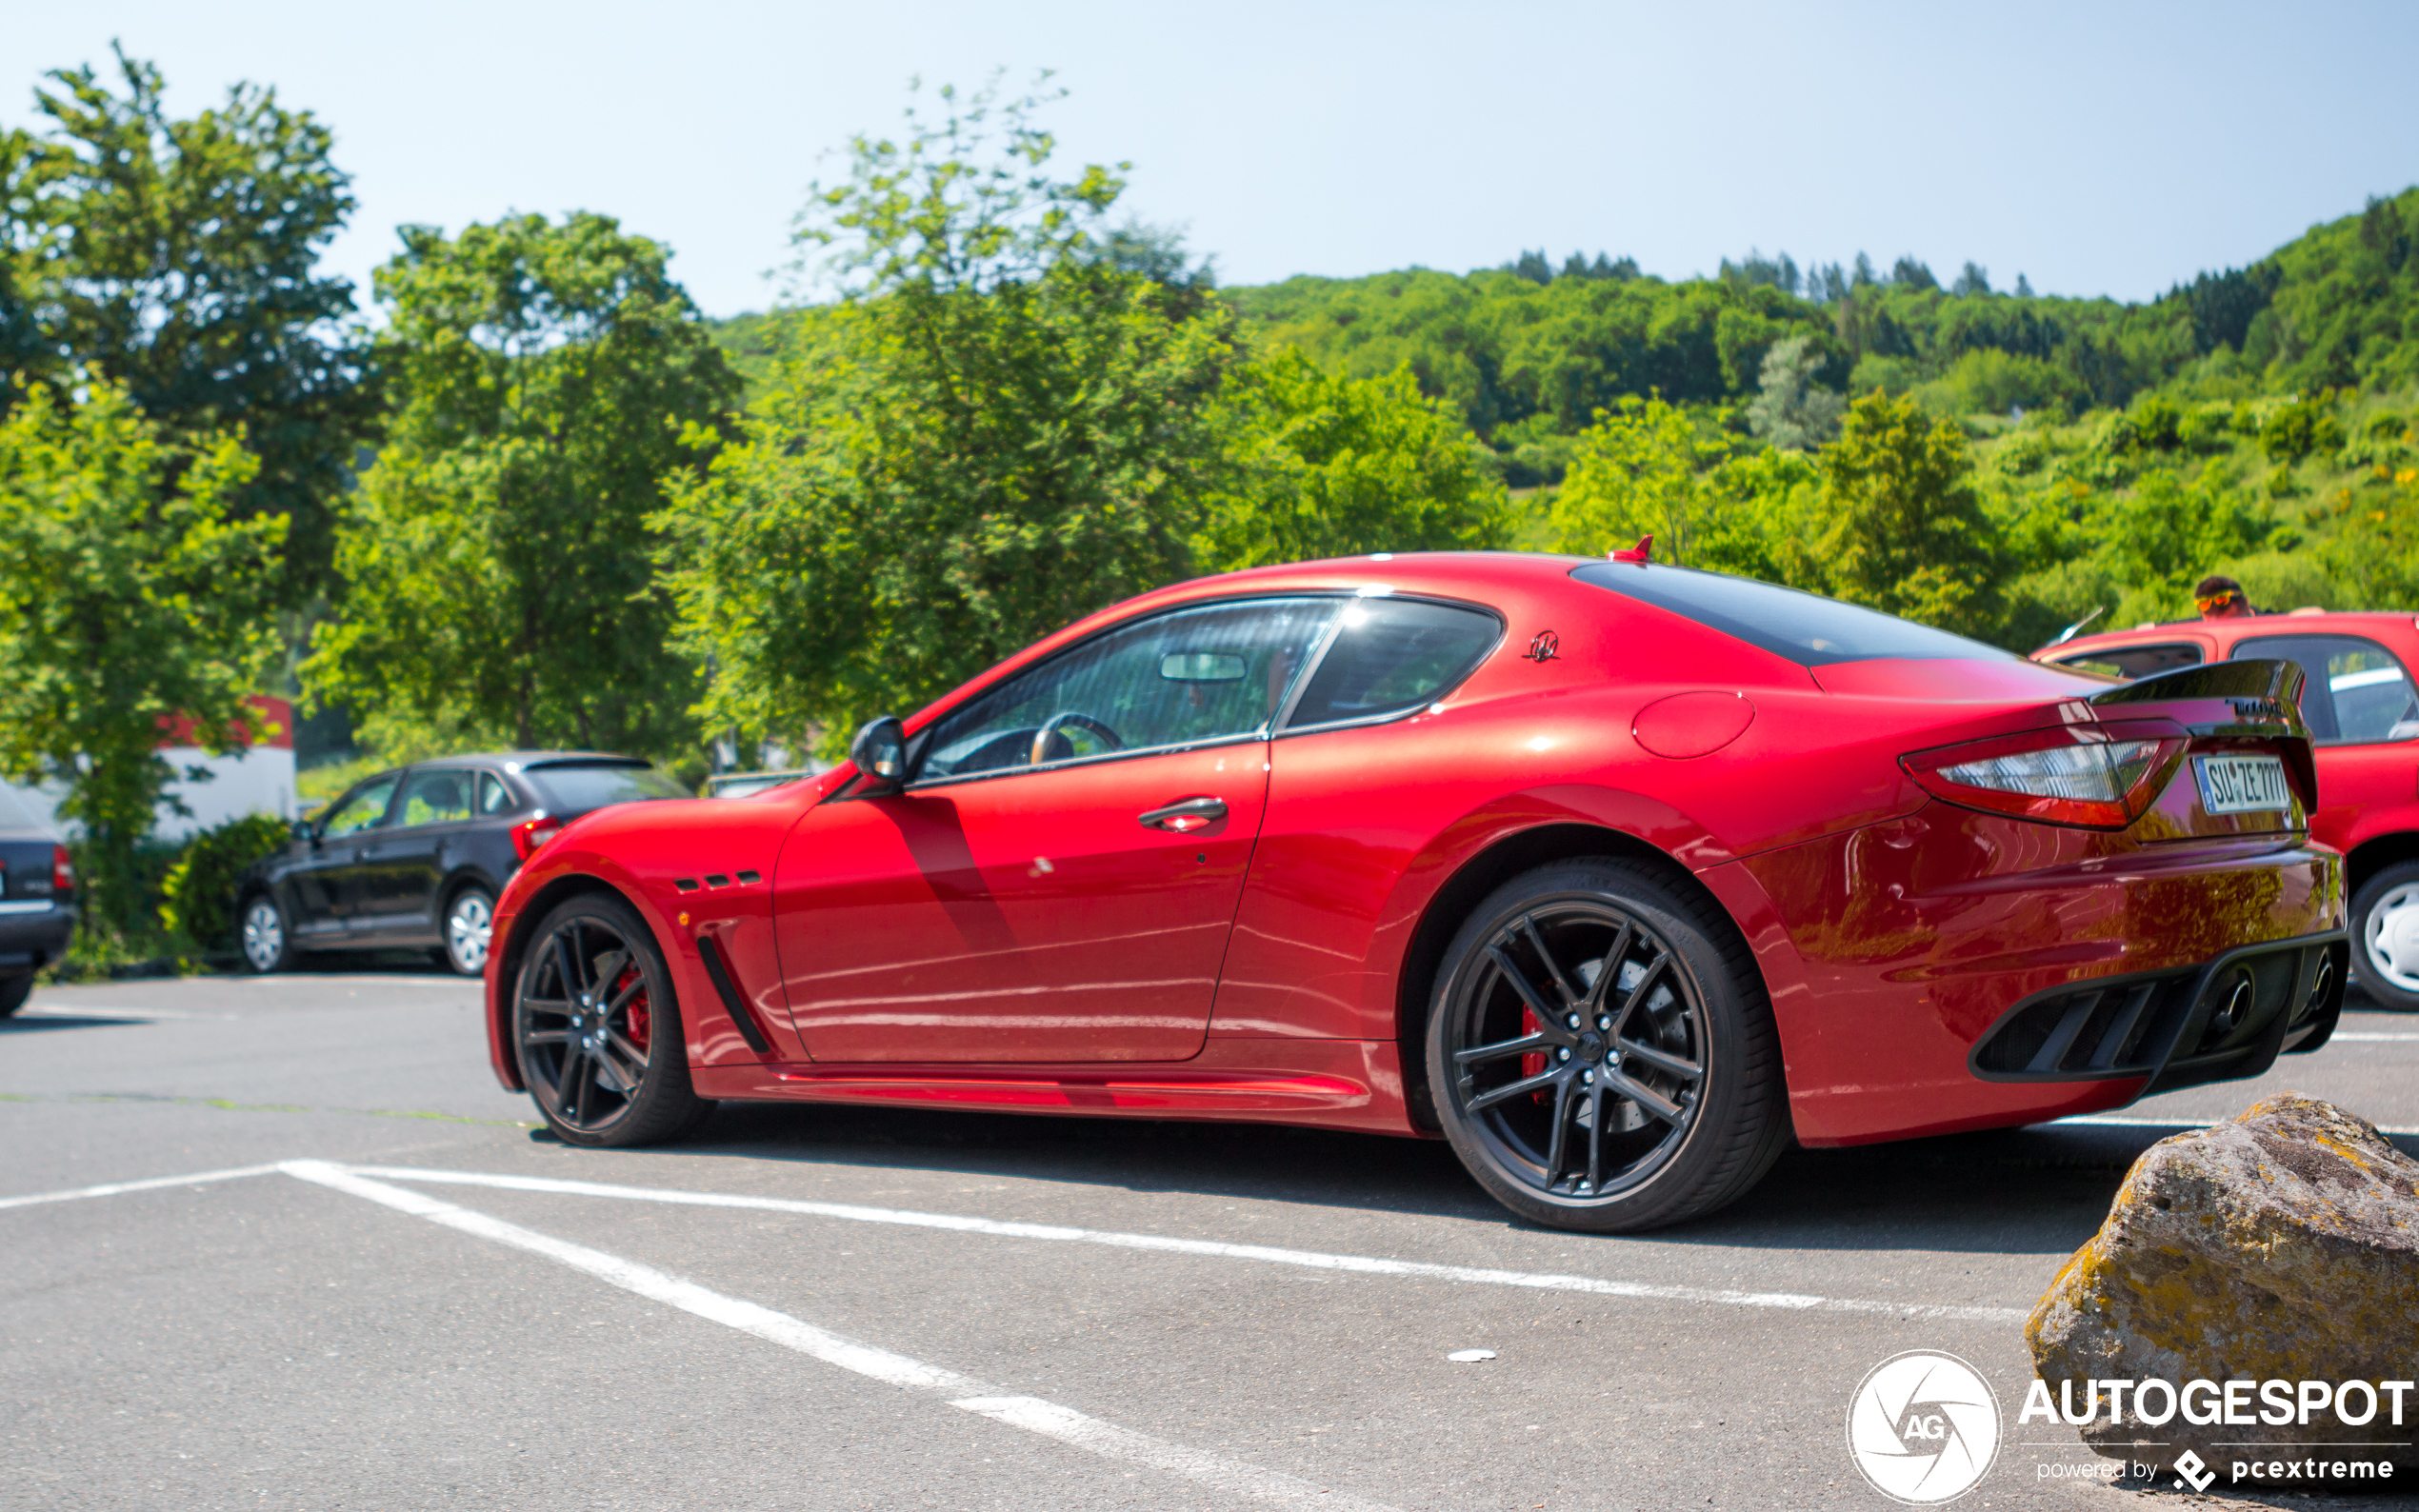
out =
<svg viewBox="0 0 2419 1512"><path fill-rule="evenodd" d="M1420 1033L1456 924L1524 868L1606 854L1693 878L1751 946L1805 1144L2092 1113L2160 1074L2257 1074L2325 1040L2339 982L2329 997L2313 963L2334 951L2327 970L2342 970L2344 900L2339 859L2308 842L2308 743L2288 706L2206 687L2095 706L2126 689L1979 646L1807 665L1575 576L1589 569L1606 564L1418 554L1180 583L1067 627L905 731L1185 605L1427 598L1500 622L1476 670L1384 721L885 796L859 796L839 767L740 801L588 815L496 905L496 1077L523 1086L510 1023L527 927L602 888L670 960L704 1098L1425 1135ZM1918 752L2100 740L2102 726L2167 740L2160 786L2119 827L1950 803L1916 774ZM2291 803L2206 813L2192 777L2175 779L2187 748L2281 752ZM1224 818L1137 825L1197 796ZM2121 992L2073 1011L2059 994L2196 982L2230 951L2284 941L2308 970L2279 992L2310 1006L2279 1009L2245 1055L2184 1069L2184 1043L2165 1069L2073 1077L2027 1077L2030 1048L2005 1074L1974 1060L2017 1004L2105 1028Z"/></svg>

